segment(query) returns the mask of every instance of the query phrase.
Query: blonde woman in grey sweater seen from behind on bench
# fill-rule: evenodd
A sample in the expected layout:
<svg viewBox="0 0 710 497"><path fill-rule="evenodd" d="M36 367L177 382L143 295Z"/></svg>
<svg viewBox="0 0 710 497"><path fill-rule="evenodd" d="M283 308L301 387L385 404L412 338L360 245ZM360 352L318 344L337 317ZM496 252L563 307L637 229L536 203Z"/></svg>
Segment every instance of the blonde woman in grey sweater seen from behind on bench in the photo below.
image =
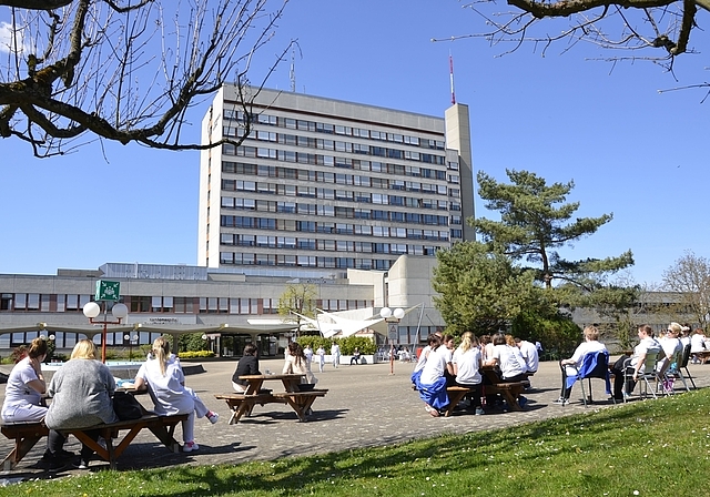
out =
<svg viewBox="0 0 710 497"><path fill-rule="evenodd" d="M97 347L88 339L81 339L74 346L70 361L52 376L48 393L52 403L47 412L44 424L50 428L47 450L50 454L50 470L67 465L62 456L67 438L58 430L85 428L102 423L119 420L113 412L111 397L115 390L115 381L105 364L97 361ZM94 440L99 433L85 432ZM93 450L85 445L81 448L81 459L77 467L84 469Z"/></svg>

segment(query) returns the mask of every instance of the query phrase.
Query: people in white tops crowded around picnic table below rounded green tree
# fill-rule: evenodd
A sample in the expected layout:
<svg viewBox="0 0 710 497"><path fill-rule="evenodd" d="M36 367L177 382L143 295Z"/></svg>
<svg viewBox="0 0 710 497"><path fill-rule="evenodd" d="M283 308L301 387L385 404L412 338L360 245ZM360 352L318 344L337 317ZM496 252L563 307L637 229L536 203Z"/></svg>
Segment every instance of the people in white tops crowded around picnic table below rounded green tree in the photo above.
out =
<svg viewBox="0 0 710 497"><path fill-rule="evenodd" d="M483 366L496 367L504 382L514 383L527 381L535 374L538 362L535 344L516 341L511 335L499 333L493 337L481 336L479 341L466 332L459 346L455 347L453 335L435 333L428 336L427 346L422 349L412 383L424 400L425 410L434 417L449 408L446 390L449 386L469 388L471 393L465 398L466 408L481 415L486 409L497 409L501 402L496 395L484 396L483 386L489 381L480 373ZM520 407L527 402L521 395L517 400Z"/></svg>

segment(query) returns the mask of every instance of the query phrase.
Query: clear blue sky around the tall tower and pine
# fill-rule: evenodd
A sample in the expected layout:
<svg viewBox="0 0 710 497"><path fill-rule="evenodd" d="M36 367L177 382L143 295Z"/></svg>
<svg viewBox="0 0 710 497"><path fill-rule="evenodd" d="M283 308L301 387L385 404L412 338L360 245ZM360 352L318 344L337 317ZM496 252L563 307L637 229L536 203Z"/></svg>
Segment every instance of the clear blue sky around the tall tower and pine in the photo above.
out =
<svg viewBox="0 0 710 497"><path fill-rule="evenodd" d="M699 20L709 16L702 11ZM8 9L0 10L0 21L8 19ZM456 0L294 0L257 65L297 38L296 91L443 116L450 51L456 99L470 109L476 170L499 180L506 168L548 182L574 180L569 200L581 203L580 216L613 213L565 255L605 257L630 248L638 283L660 282L686 251L710 257L710 172L702 159L710 109L702 90L658 92L704 81L700 55L681 55L670 74L650 62L595 60L628 52L588 43L562 53L561 42L546 57L523 45L500 57L506 47L483 39L430 41L487 29ZM693 31L691 45L708 41ZM267 87L288 90L288 72L283 64ZM195 141L206 108L190 116ZM104 142L39 160L12 139L0 140L0 273L196 263L197 153ZM490 216L478 199L476 210Z"/></svg>

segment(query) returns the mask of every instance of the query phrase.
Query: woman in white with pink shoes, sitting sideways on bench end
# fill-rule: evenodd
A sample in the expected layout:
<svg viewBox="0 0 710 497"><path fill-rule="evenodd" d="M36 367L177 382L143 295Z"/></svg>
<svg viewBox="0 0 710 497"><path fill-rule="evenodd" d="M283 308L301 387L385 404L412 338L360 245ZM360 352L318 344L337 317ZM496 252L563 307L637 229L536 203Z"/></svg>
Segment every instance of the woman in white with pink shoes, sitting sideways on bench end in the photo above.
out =
<svg viewBox="0 0 710 497"><path fill-rule="evenodd" d="M197 417L206 416L214 424L220 415L207 409L192 388L185 386L185 375L180 366L180 359L170 353L170 343L163 338L153 342L153 349L148 355L135 375L135 389L148 392L155 406L155 414L169 416L174 414L189 414L182 422L183 453L197 450L200 446L194 440L195 414Z"/></svg>

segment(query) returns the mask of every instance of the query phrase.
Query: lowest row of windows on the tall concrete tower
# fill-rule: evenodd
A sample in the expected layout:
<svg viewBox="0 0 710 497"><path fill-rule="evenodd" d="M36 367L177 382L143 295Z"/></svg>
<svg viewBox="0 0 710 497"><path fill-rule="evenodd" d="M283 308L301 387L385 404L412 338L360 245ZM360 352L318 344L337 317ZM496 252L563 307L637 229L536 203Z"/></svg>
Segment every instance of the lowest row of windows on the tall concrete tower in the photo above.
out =
<svg viewBox="0 0 710 497"><path fill-rule="evenodd" d="M390 248L393 244L389 244ZM402 245L394 245L395 247ZM406 245L403 250L408 248ZM423 246L417 255L434 255L439 247ZM406 252L402 252L403 254ZM399 255L399 254L397 254ZM284 267L322 267L322 268L355 268L355 270L378 270L387 271L395 263L396 258L356 258L356 257L332 257L314 255L275 255L254 254L244 252L220 252L220 264L233 264L237 266L284 266Z"/></svg>

